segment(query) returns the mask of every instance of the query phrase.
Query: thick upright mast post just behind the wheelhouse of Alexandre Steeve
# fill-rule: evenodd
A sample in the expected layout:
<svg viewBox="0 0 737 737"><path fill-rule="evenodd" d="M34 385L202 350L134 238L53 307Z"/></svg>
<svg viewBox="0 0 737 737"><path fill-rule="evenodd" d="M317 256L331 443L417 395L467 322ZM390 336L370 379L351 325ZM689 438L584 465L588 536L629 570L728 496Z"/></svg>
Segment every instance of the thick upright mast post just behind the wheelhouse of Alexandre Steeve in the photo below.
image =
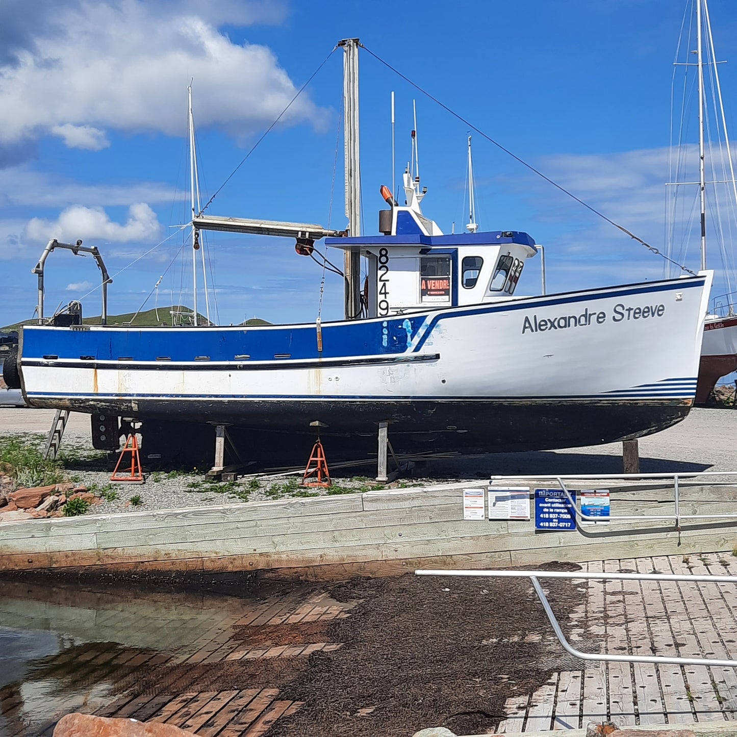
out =
<svg viewBox="0 0 737 737"><path fill-rule="evenodd" d="M343 109L346 144L346 217L351 237L361 234L361 175L358 137L358 46L357 38L344 38L343 46ZM360 315L360 251L346 249L343 256L345 279L346 320Z"/></svg>

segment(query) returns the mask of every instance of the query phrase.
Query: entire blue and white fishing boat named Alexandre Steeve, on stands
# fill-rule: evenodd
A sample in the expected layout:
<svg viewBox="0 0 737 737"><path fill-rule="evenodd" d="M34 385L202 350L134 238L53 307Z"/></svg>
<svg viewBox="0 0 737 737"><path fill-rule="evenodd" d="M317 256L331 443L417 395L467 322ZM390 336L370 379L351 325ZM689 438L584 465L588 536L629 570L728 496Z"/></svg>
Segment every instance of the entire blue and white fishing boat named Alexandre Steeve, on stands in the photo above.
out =
<svg viewBox="0 0 737 737"><path fill-rule="evenodd" d="M39 319L23 326L18 352L28 404L89 413L97 447L117 448L119 418L135 419L148 455L165 437L181 444L195 427L228 426L251 458L265 445L293 449L315 426L355 456L376 448L381 426L397 452L469 452L607 443L684 419L711 273L522 296L534 238L444 234L423 212L414 167L405 204L383 186L379 233L362 234L359 43L340 45L346 229L220 217L193 203L192 242L203 230L287 236L309 255L324 238L344 254L345 318L180 329Z"/></svg>

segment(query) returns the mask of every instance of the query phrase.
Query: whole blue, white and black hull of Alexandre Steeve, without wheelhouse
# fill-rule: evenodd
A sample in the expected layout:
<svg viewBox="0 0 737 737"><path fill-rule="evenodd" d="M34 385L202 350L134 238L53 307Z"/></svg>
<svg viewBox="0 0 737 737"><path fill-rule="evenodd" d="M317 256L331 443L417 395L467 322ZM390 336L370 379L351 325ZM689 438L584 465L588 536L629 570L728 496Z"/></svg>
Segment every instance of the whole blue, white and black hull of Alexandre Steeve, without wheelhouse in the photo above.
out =
<svg viewBox="0 0 737 737"><path fill-rule="evenodd" d="M299 433L319 420L366 436L388 421L408 446L595 444L688 413L709 286L706 273L324 324L322 353L314 325L26 326L21 380L32 407L144 421Z"/></svg>

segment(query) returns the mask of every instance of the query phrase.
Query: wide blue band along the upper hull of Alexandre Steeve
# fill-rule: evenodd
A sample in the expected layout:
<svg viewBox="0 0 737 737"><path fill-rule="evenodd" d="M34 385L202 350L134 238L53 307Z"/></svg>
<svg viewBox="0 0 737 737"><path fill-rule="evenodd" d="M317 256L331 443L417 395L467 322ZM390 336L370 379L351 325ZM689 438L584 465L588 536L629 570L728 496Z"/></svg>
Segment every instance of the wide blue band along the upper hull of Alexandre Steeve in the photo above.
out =
<svg viewBox="0 0 737 737"><path fill-rule="evenodd" d="M210 362L244 360L350 360L359 357L416 354L422 351L439 321L495 312L534 310L598 301L612 297L654 294L702 288L703 277L678 279L628 287L605 287L600 290L565 293L553 297L522 298L519 301L440 308L409 312L392 318L374 318L354 322L324 323L323 352L318 353L314 324L207 327L207 328L116 328L74 330L29 326L22 332L22 362L42 360L55 354L59 360L117 361L127 357L135 361L156 361L166 357L172 363L188 363L198 356ZM278 358L277 358L278 357ZM164 363L164 362L161 362ZM205 363L203 361L203 363Z"/></svg>

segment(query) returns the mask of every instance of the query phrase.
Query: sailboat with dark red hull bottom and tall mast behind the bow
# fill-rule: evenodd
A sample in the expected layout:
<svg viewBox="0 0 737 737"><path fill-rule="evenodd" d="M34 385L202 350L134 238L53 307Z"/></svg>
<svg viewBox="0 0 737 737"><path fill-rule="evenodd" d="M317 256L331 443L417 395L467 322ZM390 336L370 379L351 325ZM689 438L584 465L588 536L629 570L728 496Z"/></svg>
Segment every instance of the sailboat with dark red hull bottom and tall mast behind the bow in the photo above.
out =
<svg viewBox="0 0 737 737"><path fill-rule="evenodd" d="M694 5L696 20L696 62L677 60L676 66L685 68L693 66L696 69L699 119L699 181L686 184L695 184L699 188L699 225L697 230L699 232L702 270L707 268L708 223L706 213L708 191L712 193L713 199L710 210L715 217L712 223L713 228L709 229L710 237L719 241L723 267L720 276L722 276L727 288L727 293L713 299L704 324L704 339L699 362L698 383L696 385L696 403L705 404L708 402L719 379L737 370L737 315L734 312L733 304L736 293L732 292L729 287L730 271L733 270L733 264L731 263L733 245L730 242L730 234L722 231L722 223L720 223L720 220L727 217L737 217L737 179L727 131L727 117L724 114L722 103L719 62L714 52L708 0L690 0L690 3ZM687 45L683 52L684 55L677 53L677 59L683 59L685 55L693 54L694 49L691 45ZM707 99L713 101L714 117L711 121L708 121ZM708 133L716 134L715 137L719 140L715 142L707 141ZM674 186L674 189L671 190L673 194L671 217L675 215L678 188L682 184L684 183L671 182L671 185ZM720 185L725 186L722 203L717 201L719 199L717 188ZM690 201L686 204L686 207L691 208ZM673 244L670 245L672 249Z"/></svg>

